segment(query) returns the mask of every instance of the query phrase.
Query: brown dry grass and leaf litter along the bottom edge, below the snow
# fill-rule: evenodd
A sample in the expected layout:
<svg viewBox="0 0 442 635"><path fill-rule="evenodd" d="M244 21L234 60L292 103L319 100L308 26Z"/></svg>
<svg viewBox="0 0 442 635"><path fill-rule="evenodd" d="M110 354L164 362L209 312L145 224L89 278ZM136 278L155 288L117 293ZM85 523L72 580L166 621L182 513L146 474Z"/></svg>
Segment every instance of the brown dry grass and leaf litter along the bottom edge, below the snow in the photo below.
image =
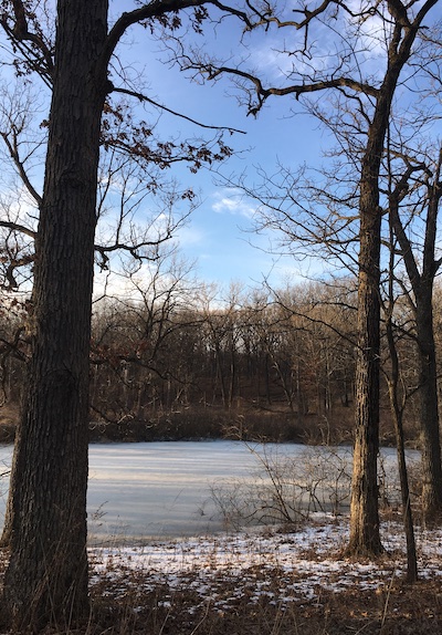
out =
<svg viewBox="0 0 442 635"><path fill-rule="evenodd" d="M339 593L317 589L309 601L280 600L282 586L299 582L284 571L251 571L241 580L220 575L211 597L201 601L198 572L176 589L167 582L146 585L143 574L126 572L114 582L92 590L92 634L151 635L344 635L442 633L442 594L439 579L407 586L400 580L372 591Z"/></svg>

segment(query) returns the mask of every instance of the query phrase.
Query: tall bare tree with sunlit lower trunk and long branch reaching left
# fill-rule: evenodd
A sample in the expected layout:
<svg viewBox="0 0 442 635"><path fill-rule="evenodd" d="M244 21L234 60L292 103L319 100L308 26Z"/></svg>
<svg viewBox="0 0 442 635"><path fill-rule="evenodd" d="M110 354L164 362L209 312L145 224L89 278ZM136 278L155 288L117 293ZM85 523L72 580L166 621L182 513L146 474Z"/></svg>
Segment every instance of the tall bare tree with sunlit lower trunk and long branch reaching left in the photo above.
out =
<svg viewBox="0 0 442 635"><path fill-rule="evenodd" d="M401 82L406 85L412 48L436 3L438 0L428 0L406 6L400 0L385 0L373 7L355 8L326 0L308 9L299 3L291 9L291 17L278 15L277 8L264 3L259 25L267 31L275 27L301 34L290 48L281 44L280 59L283 60L284 54L288 58L284 86L272 85L253 70L249 71L246 62L233 66L196 51L186 52L182 46L178 46L177 53L183 69L206 74L210 80L224 73L233 76L252 115L256 115L271 96L291 95L301 101L318 92L334 95L328 112L335 113L333 129L338 140L343 142L345 134L354 146L356 142L359 145L355 157L359 175L355 209L359 220L356 428L348 545L349 553L354 554L376 555L382 550L377 485L382 156L393 97ZM325 29L327 38L319 29ZM317 60L318 41L324 46L330 44L328 55L324 58L322 51L320 60ZM373 50L376 69L369 63ZM345 132L341 134L341 131ZM356 140L351 137L352 131Z"/></svg>

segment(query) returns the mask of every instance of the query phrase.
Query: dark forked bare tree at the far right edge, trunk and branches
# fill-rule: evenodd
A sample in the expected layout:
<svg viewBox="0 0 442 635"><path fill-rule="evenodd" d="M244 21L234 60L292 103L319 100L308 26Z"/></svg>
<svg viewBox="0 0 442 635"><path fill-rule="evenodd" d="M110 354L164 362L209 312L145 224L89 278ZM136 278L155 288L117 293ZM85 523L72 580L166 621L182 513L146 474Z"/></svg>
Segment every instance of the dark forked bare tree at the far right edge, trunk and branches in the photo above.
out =
<svg viewBox="0 0 442 635"><path fill-rule="evenodd" d="M388 211L399 253L410 281L407 300L414 319L422 436L422 508L431 522L442 510L442 467L439 434L438 369L434 342L433 287L442 260L436 257L438 214L442 197L442 153L430 163L401 146L394 153L398 175L390 184ZM390 170L391 171L391 170ZM412 228L412 220L419 226ZM417 223L414 222L414 226ZM422 233L422 242L420 241ZM413 238L414 237L414 238ZM403 287L403 284L402 284Z"/></svg>

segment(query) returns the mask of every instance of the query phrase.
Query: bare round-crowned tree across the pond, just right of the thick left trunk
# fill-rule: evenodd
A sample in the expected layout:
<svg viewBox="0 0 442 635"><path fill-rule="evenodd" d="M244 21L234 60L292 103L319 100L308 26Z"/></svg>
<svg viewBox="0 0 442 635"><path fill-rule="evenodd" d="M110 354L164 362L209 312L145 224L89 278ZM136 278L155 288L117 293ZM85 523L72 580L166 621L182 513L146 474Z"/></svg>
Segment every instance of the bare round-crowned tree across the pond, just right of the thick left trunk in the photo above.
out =
<svg viewBox="0 0 442 635"><path fill-rule="evenodd" d="M106 420L147 420L157 404L170 409L186 400L192 377L180 345L198 339L203 321L194 309L201 285L177 246L130 264L115 295L108 291L94 308L92 407Z"/></svg>

